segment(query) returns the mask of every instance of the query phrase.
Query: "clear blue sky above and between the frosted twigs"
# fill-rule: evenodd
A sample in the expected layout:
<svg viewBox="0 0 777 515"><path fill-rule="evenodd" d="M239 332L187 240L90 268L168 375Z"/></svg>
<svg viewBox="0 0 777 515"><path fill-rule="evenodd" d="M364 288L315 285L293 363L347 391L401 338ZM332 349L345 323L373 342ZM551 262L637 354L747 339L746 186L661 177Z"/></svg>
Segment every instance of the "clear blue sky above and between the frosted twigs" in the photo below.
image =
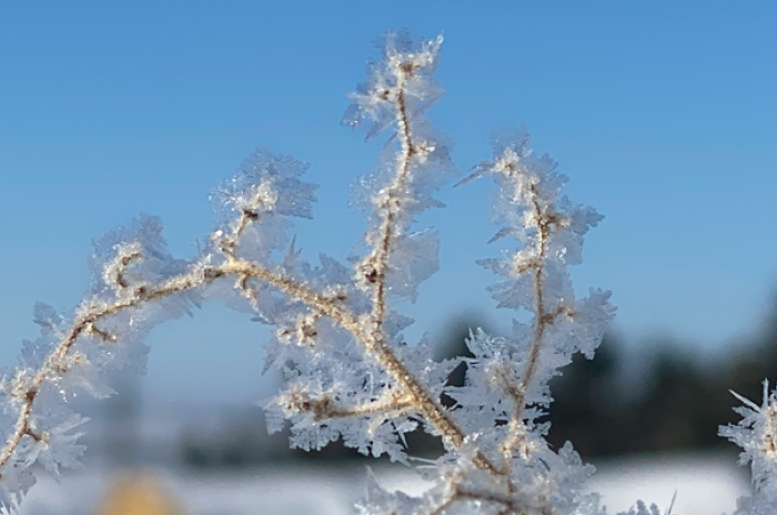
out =
<svg viewBox="0 0 777 515"><path fill-rule="evenodd" d="M615 329L720 349L777 291L777 4L773 2L3 2L0 6L0 363L37 329L37 300L71 309L91 239L140 211L192 255L210 188L256 145L311 162L323 184L309 251L343 258L363 224L347 183L380 143L339 127L387 29L445 36L431 112L461 170L488 134L527 123L573 200L606 215L575 272L614 291ZM442 271L411 335L454 313L504 327L473 260L490 184L445 189L425 218ZM228 326L228 330L223 327ZM148 384L170 398L254 398L265 333L218 306L160 327ZM173 372L174 371L174 372Z"/></svg>

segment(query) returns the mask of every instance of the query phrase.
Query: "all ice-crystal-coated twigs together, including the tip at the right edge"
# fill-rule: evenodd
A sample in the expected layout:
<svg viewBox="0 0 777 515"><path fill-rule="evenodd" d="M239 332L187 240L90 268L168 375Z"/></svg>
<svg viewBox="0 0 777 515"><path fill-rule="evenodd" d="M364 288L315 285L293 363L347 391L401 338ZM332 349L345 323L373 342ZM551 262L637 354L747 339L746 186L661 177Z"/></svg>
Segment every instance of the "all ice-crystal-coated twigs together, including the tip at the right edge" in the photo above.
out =
<svg viewBox="0 0 777 515"><path fill-rule="evenodd" d="M306 164L266 150L213 192L219 224L195 259L174 259L148 215L95 241L85 299L70 316L37 305L40 337L2 372L0 506L20 502L33 464L54 476L78 464L84 418L71 411L73 397L110 395L111 370L142 372L153 325L219 300L274 327L265 370L280 368L285 382L265 408L270 432L291 425L292 446L342 440L408 464L405 434L422 427L442 438L445 454L418 468L434 484L428 492L414 498L372 482L360 513L604 513L584 491L593 467L569 443L552 448L542 422L551 378L573 354L593 357L615 314L609 292L577 297L567 270L602 216L562 194L567 178L533 153L525 131L497 134L493 158L460 182L490 175L498 186L491 242L509 245L480 264L500 276L488 286L497 306L516 311L512 333L475 330L474 357L437 362L431 342L405 340L413 320L392 309L415 301L438 267L437 233L415 218L444 205L434 195L455 174L446 139L424 118L443 91L434 78L441 44L389 33L382 60L351 95L343 124L389 139L376 170L354 182L367 229L346 262L321 254L307 263L295 249L290 219L312 216L316 185L302 180ZM466 383L450 386L462 361ZM455 403L446 407L443 394ZM753 462L757 496L741 511L775 513L777 401L766 395L740 411L740 425L722 433ZM638 503L627 515L657 513Z"/></svg>

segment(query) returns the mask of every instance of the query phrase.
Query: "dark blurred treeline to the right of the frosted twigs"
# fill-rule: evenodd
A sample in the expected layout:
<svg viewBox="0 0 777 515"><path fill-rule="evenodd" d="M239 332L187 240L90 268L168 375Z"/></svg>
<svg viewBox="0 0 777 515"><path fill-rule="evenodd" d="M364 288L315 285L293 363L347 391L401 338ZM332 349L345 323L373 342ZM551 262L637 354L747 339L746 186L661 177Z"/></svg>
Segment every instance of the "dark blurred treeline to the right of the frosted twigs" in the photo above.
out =
<svg viewBox="0 0 777 515"><path fill-rule="evenodd" d="M765 378L777 380L777 316L714 360L670 340L649 342L640 381L623 374L623 346L606 336L596 357L576 356L552 383L548 441L584 457L628 453L734 450L718 426L741 420L736 392L760 404ZM646 345L647 346L647 345Z"/></svg>

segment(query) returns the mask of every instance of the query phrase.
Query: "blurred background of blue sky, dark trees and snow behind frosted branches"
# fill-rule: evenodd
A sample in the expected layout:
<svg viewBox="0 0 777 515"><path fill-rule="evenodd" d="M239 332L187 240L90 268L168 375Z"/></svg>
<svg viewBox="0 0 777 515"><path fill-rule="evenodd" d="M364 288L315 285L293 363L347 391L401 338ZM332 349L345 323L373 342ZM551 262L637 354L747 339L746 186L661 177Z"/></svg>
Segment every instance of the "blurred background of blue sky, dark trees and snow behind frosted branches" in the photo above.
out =
<svg viewBox="0 0 777 515"><path fill-rule="evenodd" d="M526 123L573 201L606 216L573 279L612 290L618 314L596 359L555 380L549 441L598 466L613 511L675 492L676 513L730 511L748 476L716 436L736 420L729 390L758 401L777 380L775 22L766 1L1 3L0 363L36 337L36 301L72 311L91 240L139 212L195 255L209 192L256 145L312 163L315 219L293 232L311 261L344 260L364 231L349 183L383 144L339 127L345 93L385 30L443 33L447 93L430 118L458 168L491 156L492 130ZM395 307L441 359L515 316L474 264L500 253L490 186L445 188L447 208L418 220L440 231L441 270ZM84 471L44 481L22 513L344 513L365 465L418 488L339 445L305 454L266 435L268 334L221 305L158 327L148 373L79 406Z"/></svg>

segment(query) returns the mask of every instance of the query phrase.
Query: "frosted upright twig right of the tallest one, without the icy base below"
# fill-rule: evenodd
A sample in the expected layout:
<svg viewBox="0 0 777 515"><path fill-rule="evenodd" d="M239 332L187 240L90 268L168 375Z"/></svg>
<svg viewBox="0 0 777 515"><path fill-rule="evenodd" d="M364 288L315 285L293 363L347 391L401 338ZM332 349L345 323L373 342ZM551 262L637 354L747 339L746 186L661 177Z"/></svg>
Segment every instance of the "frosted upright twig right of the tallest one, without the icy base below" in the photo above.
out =
<svg viewBox="0 0 777 515"><path fill-rule="evenodd" d="M480 264L502 276L488 287L497 307L532 314L528 325L514 322L508 339L483 333L472 337L475 360L470 365L470 385L450 394L481 417L485 415L478 395L494 392L500 398L490 415L493 420L478 424L504 424L500 432L505 434L494 445L506 473L516 455L531 454L528 433L542 432L542 426L533 426L552 401L548 381L575 352L593 357L615 312L609 292L592 290L588 297L576 300L566 270L582 261L583 236L602 216L559 196L566 176L556 172L547 154L536 158L528 142L524 131L497 134L494 159L476 165L461 182L492 175L500 185L495 220L503 226L491 241L512 236L518 246L505 251L502 259Z"/></svg>

